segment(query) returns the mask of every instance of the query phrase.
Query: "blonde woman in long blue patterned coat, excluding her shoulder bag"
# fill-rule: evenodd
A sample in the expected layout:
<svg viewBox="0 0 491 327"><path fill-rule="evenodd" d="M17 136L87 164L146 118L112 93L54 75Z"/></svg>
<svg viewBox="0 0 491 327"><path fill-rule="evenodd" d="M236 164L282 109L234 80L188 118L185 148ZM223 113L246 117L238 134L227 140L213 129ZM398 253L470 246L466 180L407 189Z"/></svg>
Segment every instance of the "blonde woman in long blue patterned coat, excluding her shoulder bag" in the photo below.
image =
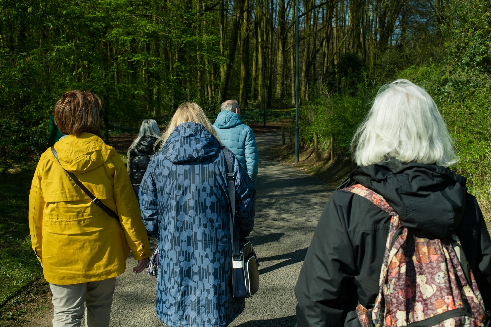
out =
<svg viewBox="0 0 491 327"><path fill-rule="evenodd" d="M139 189L143 221L160 250L157 316L170 327L225 327L245 303L231 291L231 213L223 146L203 109L194 103L177 109L157 142L160 149ZM229 153L235 223L245 238L254 225L256 191Z"/></svg>

